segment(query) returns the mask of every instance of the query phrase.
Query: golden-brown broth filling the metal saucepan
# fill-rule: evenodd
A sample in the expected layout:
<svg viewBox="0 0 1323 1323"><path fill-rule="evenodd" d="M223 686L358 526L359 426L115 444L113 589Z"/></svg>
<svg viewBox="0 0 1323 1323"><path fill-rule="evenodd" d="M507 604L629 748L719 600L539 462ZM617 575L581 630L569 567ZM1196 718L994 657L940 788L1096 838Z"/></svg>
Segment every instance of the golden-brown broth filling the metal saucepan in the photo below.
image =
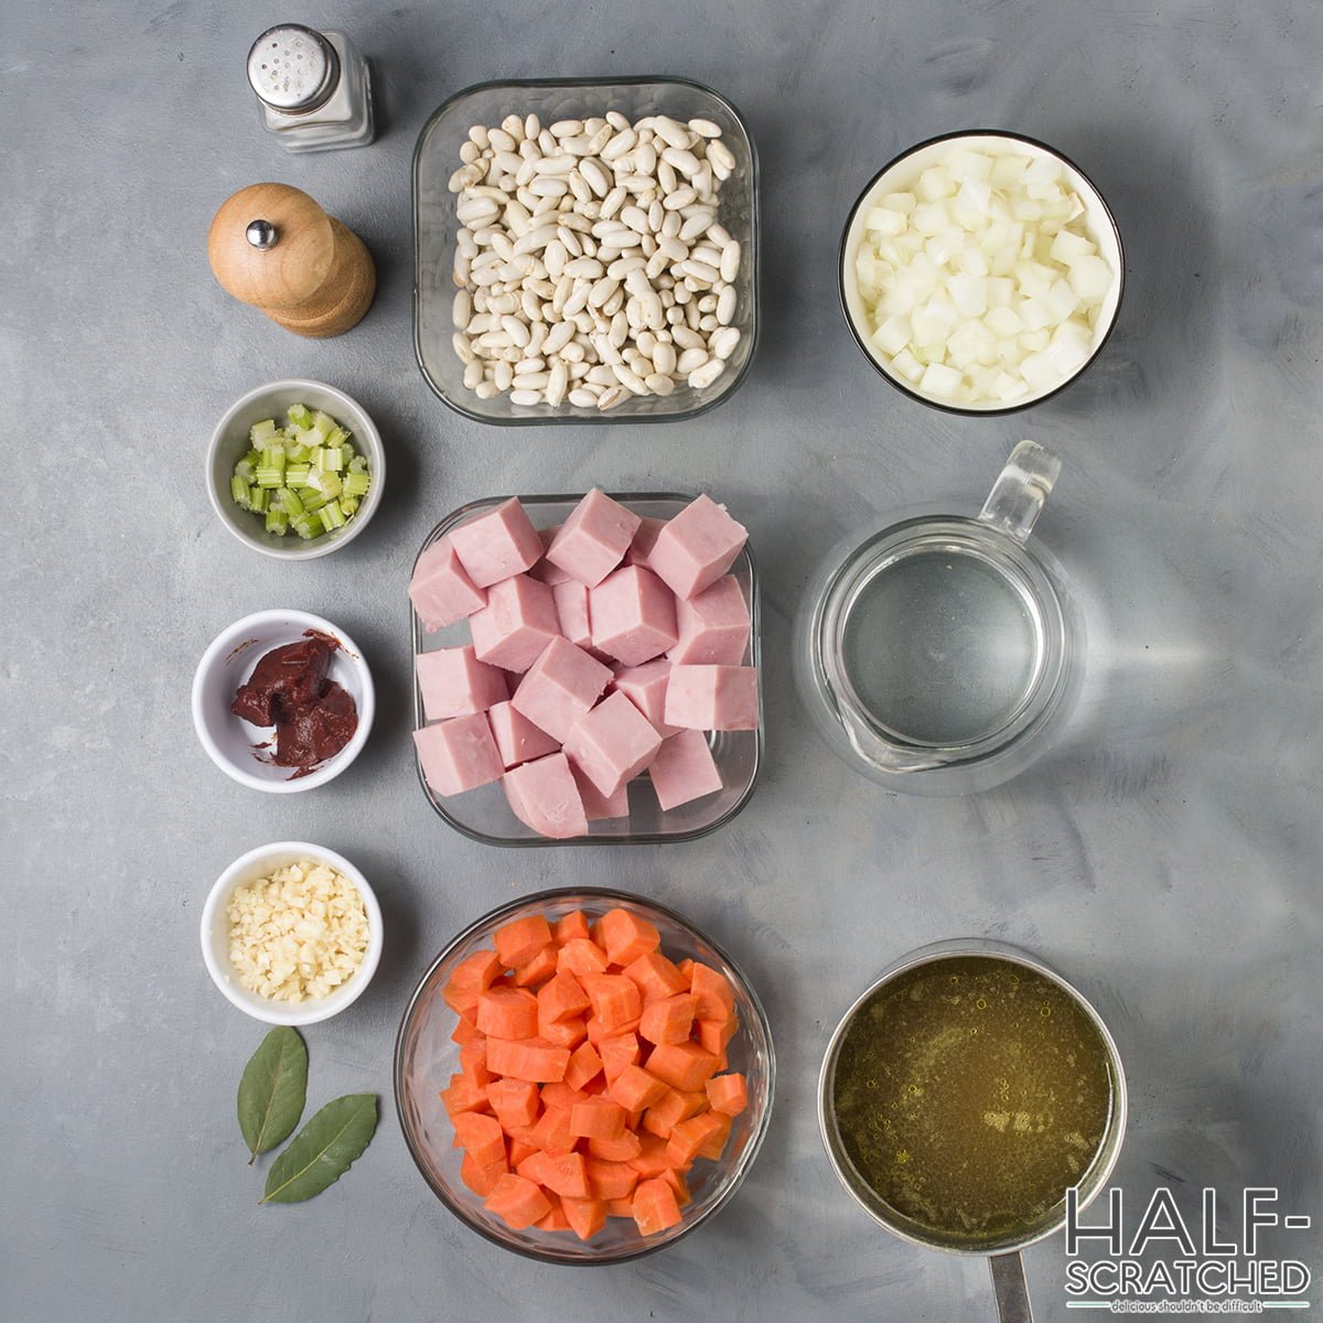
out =
<svg viewBox="0 0 1323 1323"><path fill-rule="evenodd" d="M1088 1172L1111 1114L1110 1061L1057 983L953 957L859 1008L832 1109L859 1179L917 1234L976 1245L1032 1232Z"/></svg>

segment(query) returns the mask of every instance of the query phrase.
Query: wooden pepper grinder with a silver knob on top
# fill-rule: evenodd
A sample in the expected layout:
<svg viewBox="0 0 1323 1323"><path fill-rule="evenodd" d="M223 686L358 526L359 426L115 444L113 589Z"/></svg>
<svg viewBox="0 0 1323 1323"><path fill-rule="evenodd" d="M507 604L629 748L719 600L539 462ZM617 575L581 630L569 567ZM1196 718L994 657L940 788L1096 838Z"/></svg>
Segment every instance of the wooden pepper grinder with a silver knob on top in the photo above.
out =
<svg viewBox="0 0 1323 1323"><path fill-rule="evenodd" d="M318 340L357 325L377 288L363 239L287 184L251 184L221 204L206 255L235 299Z"/></svg>

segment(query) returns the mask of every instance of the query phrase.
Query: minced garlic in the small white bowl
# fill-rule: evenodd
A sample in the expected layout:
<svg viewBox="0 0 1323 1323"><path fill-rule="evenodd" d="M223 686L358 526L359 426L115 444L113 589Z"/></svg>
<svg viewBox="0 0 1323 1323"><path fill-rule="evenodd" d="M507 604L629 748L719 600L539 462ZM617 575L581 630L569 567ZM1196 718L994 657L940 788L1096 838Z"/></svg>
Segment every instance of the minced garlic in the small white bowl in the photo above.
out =
<svg viewBox="0 0 1323 1323"><path fill-rule="evenodd" d="M368 950L359 888L310 859L237 888L228 914L239 983L273 1002L329 996Z"/></svg>

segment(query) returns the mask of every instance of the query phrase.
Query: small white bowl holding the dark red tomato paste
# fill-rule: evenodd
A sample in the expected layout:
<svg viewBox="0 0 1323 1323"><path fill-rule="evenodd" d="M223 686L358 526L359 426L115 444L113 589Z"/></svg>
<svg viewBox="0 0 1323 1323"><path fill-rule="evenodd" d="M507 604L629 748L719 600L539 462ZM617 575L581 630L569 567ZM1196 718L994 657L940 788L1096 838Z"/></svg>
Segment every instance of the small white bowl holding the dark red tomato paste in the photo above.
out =
<svg viewBox="0 0 1323 1323"><path fill-rule="evenodd" d="M327 758L315 771L298 777L291 767L277 767L263 761L263 754L269 750L261 750L257 745L271 738L273 729L254 726L235 717L230 712L230 704L239 685L247 683L258 662L271 648L296 643L308 630L339 639L340 647L331 654L327 677L353 699L359 709L359 728L333 758ZM193 726L208 757L241 786L273 795L314 790L339 777L368 742L376 708L372 672L357 643L339 626L307 611L258 611L245 615L212 640L193 675Z"/></svg>

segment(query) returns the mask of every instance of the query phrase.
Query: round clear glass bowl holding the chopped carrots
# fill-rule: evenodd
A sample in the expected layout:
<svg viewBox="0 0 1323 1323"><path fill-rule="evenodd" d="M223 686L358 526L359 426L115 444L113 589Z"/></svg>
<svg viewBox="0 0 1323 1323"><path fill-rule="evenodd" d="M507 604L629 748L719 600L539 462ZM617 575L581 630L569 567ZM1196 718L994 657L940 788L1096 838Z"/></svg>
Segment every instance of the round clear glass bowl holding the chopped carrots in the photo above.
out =
<svg viewBox="0 0 1323 1323"><path fill-rule="evenodd" d="M492 935L503 923L529 914L545 914L554 923L577 909L595 918L615 908L652 923L662 934L662 954L668 959L700 960L730 982L740 1032L730 1040L726 1054L729 1069L745 1076L749 1106L734 1118L720 1160L699 1159L685 1176L693 1199L684 1207L683 1220L669 1230L644 1237L631 1220L622 1217L607 1218L605 1229L587 1242L573 1232L541 1232L533 1226L511 1230L459 1179L462 1151L451 1146L454 1129L438 1097L438 1089L459 1069L459 1048L450 1037L456 1016L442 1000L442 992L460 960L492 947ZM749 980L714 942L673 910L623 892L550 890L492 910L464 929L433 962L409 999L396 1039L396 1111L405 1143L433 1193L475 1232L504 1249L548 1263L619 1263L675 1244L730 1200L767 1134L775 1074L767 1016Z"/></svg>

